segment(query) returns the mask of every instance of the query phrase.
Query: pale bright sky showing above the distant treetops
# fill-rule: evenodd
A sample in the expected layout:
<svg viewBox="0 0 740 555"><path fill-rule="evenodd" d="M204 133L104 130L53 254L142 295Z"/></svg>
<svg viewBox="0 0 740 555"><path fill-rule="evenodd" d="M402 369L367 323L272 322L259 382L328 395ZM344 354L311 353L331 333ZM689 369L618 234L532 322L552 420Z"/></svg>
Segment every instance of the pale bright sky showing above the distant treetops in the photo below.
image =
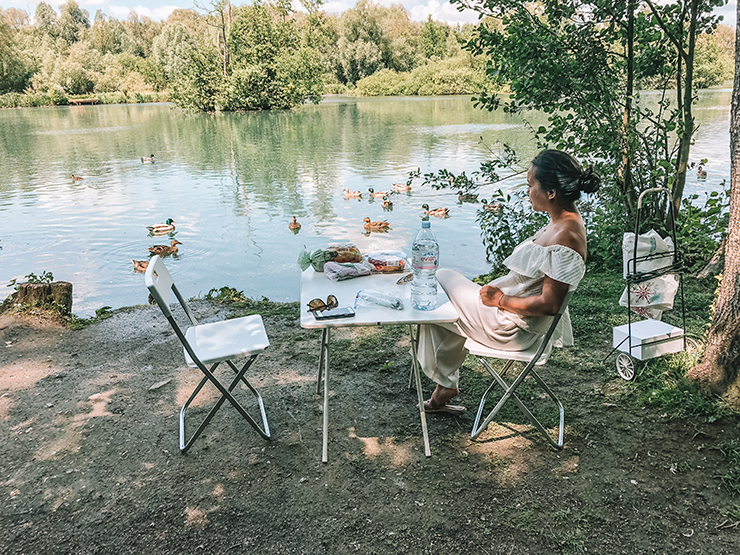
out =
<svg viewBox="0 0 740 555"><path fill-rule="evenodd" d="M45 0L54 8L59 7L66 0ZM447 1L442 0L376 0L379 4L389 6L392 3L402 4L410 13L414 21L424 21L427 16L431 15L433 19L446 21L448 23L475 23L478 20L476 12L465 11L458 12L457 9ZM660 2L660 0L658 0ZM234 5L249 3L242 0L232 0ZM125 19L130 11L135 11L139 15L145 15L155 20L166 18L172 10L177 8L193 8L192 0L77 0L81 8L90 13L90 18L95 16L95 12L102 9L116 19ZM204 0L207 4L207 0ZM356 0L328 0L324 4L324 11L328 13L341 13L354 7ZM662 3L662 2L661 2ZM19 8L25 10L33 16L38 6L38 0L0 0L2 8ZM297 0L293 0L296 8L300 7ZM723 23L735 26L737 0L730 2L716 9L716 13L725 17Z"/></svg>

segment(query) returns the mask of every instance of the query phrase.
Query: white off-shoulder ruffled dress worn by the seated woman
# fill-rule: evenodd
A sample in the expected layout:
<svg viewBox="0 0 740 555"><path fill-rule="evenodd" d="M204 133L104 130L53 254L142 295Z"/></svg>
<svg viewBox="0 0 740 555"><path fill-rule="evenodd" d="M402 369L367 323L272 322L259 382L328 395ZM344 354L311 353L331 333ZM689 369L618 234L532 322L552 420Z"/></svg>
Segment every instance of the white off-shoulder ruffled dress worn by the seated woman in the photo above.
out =
<svg viewBox="0 0 740 555"><path fill-rule="evenodd" d="M504 260L509 273L489 285L495 285L509 297L531 297L542 293L545 276L550 276L567 283L569 291L576 289L586 273L583 258L564 245L538 245L534 241L540 233L542 230L514 249ZM418 356L424 373L443 387L458 388L458 369L468 354L467 337L495 349L519 351L531 346L552 323L552 316L521 316L484 305L481 286L453 270L438 270L437 279L460 320L455 324L421 326ZM557 347L573 345L567 310L558 322L552 343Z"/></svg>

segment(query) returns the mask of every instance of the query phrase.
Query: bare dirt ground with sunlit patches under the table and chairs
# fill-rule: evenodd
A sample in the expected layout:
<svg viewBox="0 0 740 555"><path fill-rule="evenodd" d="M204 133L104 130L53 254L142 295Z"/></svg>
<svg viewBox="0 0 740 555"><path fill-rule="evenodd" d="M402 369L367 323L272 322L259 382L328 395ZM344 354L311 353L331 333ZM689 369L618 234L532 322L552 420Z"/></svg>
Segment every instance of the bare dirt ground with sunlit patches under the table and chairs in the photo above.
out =
<svg viewBox="0 0 740 555"><path fill-rule="evenodd" d="M202 321L227 312L195 306ZM543 372L565 405L562 451L523 424L471 441L463 375L469 410L428 415L426 458L401 330L381 368L336 359L322 464L318 333L280 314L265 326L248 378L272 440L224 405L182 455L179 406L200 376L157 308L79 331L1 317L0 553L740 553L740 499L713 448L737 419L627 407L613 370L579 372L566 352ZM377 333L334 337L341 350Z"/></svg>

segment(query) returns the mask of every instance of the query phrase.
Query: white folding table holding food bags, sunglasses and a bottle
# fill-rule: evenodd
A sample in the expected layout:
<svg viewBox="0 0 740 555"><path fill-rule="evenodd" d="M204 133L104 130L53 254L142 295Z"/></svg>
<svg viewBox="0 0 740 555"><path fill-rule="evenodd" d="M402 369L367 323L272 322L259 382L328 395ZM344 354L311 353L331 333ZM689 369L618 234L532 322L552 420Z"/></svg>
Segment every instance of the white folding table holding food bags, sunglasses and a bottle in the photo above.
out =
<svg viewBox="0 0 740 555"><path fill-rule="evenodd" d="M329 335L332 328L351 326L383 326L391 324L408 324L411 335L412 370L416 380L416 392L419 399L419 415L421 429L424 434L424 454L432 455L429 448L429 433L427 432L426 414L424 413L424 396L421 390L421 375L417 360L417 346L420 324L444 324L458 320L458 314L452 303L449 302L444 291L440 288L437 295L437 307L434 310L415 310L411 307L411 284L398 285L396 281L402 274L373 274L343 281L332 281L321 272L309 267L301 275L301 327L306 329L321 329L321 350L319 352L319 376L316 384L317 393L321 392L321 381L324 382L324 424L321 461L328 461L328 430L329 430ZM392 294L403 299L403 310L394 310L384 307L358 306L352 318L337 320L316 320L308 311L308 302L312 299L326 301L328 295L334 295L340 307L354 306L357 292L361 289L372 289Z"/></svg>

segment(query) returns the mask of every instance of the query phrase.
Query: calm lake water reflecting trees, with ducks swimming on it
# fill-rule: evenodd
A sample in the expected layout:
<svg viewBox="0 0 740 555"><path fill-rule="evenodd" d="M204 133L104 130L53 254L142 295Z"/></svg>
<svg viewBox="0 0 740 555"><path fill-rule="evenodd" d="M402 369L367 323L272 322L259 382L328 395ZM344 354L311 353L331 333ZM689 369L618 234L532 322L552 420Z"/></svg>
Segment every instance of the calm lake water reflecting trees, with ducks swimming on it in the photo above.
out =
<svg viewBox="0 0 740 555"><path fill-rule="evenodd" d="M729 180L731 91L701 95L692 160L709 158L709 179ZM416 186L393 211L368 199L417 167L475 170L507 142L531 158L521 120L472 107L469 97L341 99L291 112L194 115L171 105L80 106L0 111L0 299L11 279L50 271L74 284L73 312L94 314L146 302L131 259L169 238L146 225L173 218L180 253L167 264L186 296L228 285L250 297L297 300L304 247L347 240L363 252L410 251L420 206L450 208L433 219L443 266L469 276L489 269L477 207ZM156 163L141 156L154 153ZM73 182L71 174L83 177ZM521 184L523 178L511 180ZM345 200L342 189L361 190ZM497 189L498 186L491 187ZM482 191L481 198L491 191ZM291 216L302 228L288 229ZM366 236L362 219L388 219Z"/></svg>

